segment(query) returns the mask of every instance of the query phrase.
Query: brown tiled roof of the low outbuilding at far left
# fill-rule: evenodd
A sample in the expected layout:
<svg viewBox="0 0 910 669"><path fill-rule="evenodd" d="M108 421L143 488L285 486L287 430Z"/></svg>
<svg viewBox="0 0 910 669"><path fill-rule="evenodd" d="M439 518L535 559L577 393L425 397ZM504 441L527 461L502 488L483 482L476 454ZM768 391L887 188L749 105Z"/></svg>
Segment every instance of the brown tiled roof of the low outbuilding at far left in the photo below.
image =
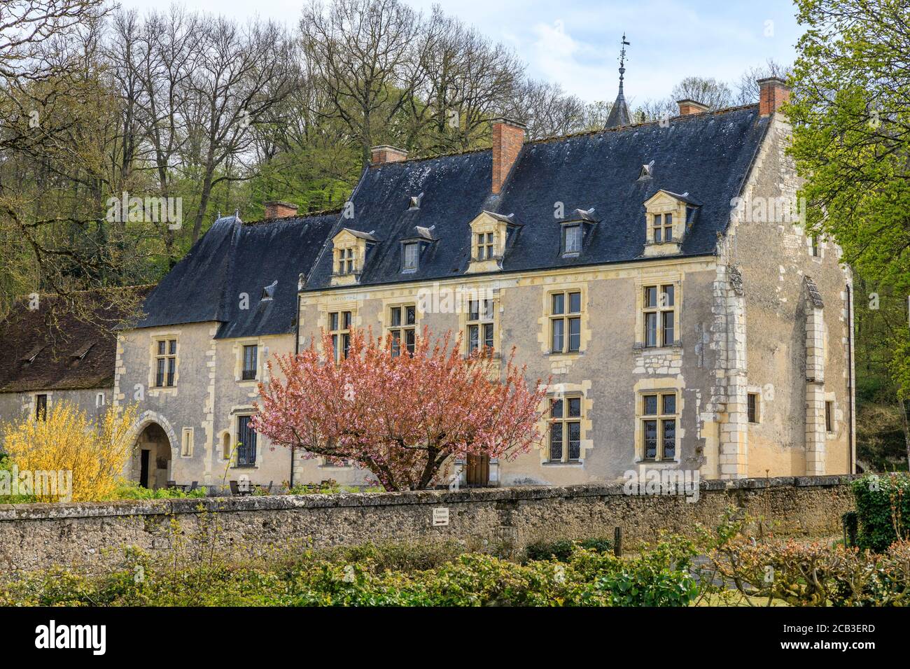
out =
<svg viewBox="0 0 910 669"><path fill-rule="evenodd" d="M18 299L0 322L0 392L82 390L114 385L116 335L111 326L130 319L150 286L116 289L134 294L111 299L111 291L74 297L91 318L80 317L57 296L39 296L38 309ZM90 322L86 322L90 321Z"/></svg>

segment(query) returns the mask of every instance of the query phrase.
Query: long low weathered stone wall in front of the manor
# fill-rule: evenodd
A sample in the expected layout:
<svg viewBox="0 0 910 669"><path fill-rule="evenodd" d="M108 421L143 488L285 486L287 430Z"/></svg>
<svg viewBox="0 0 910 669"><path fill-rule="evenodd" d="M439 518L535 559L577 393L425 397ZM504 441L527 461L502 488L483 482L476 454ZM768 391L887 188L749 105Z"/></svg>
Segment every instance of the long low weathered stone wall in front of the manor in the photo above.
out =
<svg viewBox="0 0 910 669"><path fill-rule="evenodd" d="M631 496L622 484L515 487L458 492L388 492L0 505L0 563L7 571L51 565L104 570L136 546L164 555L183 537L217 526L217 552L245 557L281 548L366 542L455 540L467 549L562 538L651 540L659 531L693 535L714 526L733 506L780 536L825 536L840 531L853 508L848 477L783 477L703 481L697 502L684 496ZM449 524L434 527L433 510L449 510ZM756 528L757 532L757 528ZM179 534L177 534L179 536ZM211 544L180 542L189 552Z"/></svg>

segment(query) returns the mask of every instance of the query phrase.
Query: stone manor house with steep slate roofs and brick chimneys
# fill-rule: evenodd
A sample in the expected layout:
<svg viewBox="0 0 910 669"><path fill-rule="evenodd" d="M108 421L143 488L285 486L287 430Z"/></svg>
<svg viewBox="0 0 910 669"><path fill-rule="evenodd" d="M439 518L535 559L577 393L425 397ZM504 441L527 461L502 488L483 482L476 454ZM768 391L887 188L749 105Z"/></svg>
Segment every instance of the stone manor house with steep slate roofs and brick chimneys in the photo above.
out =
<svg viewBox="0 0 910 669"><path fill-rule="evenodd" d="M490 149L375 147L338 212L218 218L117 333L129 473L362 484L250 428L266 361L322 331L343 356L368 327L407 349L425 326L551 378L541 447L456 463L465 484L854 471L851 274L793 215L789 91L759 84L757 104L632 124L621 83L602 131L526 141L499 119Z"/></svg>

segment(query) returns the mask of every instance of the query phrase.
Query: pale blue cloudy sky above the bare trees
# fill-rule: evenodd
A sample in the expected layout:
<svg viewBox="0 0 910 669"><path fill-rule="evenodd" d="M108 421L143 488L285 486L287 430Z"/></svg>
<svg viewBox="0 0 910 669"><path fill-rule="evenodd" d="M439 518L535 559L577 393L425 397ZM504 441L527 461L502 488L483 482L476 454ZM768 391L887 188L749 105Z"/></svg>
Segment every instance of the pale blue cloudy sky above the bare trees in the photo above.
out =
<svg viewBox="0 0 910 669"><path fill-rule="evenodd" d="M735 81L768 58L794 59L801 30L791 0L404 0L429 12L439 4L514 47L531 76L558 81L583 100L616 96L622 32L632 43L626 96L632 103L667 96L684 76ZM120 0L140 11L165 0ZM190 9L294 25L302 0L185 0Z"/></svg>

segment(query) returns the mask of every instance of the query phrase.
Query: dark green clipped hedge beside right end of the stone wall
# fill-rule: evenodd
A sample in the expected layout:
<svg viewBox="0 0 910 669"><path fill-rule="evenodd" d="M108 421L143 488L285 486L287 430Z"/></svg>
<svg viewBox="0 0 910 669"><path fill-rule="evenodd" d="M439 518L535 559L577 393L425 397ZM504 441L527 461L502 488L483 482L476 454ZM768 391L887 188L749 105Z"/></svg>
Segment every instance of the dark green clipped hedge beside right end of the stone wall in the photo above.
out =
<svg viewBox="0 0 910 669"><path fill-rule="evenodd" d="M884 552L897 540L910 538L910 475L867 474L852 485L859 519L856 543Z"/></svg>

